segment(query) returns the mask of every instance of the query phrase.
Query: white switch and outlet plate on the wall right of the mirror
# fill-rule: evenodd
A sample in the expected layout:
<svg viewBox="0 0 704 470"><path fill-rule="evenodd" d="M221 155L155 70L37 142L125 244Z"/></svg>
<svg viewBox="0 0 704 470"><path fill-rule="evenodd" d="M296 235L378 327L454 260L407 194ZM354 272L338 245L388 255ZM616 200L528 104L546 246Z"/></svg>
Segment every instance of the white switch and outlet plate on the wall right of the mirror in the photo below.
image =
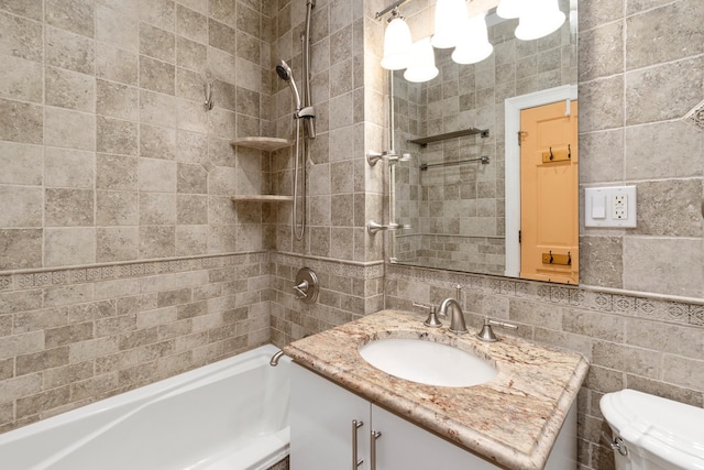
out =
<svg viewBox="0 0 704 470"><path fill-rule="evenodd" d="M584 189L585 227L636 227L636 186Z"/></svg>

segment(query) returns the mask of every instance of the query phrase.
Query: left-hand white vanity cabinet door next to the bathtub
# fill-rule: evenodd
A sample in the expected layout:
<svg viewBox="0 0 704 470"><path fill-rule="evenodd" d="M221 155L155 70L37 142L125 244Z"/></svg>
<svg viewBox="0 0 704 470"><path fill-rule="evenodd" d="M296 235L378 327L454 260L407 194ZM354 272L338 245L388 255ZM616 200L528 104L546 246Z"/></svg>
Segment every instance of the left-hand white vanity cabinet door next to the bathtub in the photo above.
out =
<svg viewBox="0 0 704 470"><path fill-rule="evenodd" d="M290 378L292 470L369 470L370 402L293 363ZM352 464L352 420L358 458Z"/></svg>

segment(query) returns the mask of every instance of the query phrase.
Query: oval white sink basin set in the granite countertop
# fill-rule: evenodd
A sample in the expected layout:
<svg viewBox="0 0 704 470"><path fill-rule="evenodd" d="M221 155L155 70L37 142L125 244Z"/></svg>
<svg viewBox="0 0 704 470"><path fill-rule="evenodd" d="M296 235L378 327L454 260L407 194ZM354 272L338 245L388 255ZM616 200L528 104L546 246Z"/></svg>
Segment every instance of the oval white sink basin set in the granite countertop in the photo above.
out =
<svg viewBox="0 0 704 470"><path fill-rule="evenodd" d="M479 385L497 373L471 352L422 339L380 339L362 346L360 354L376 369L426 385Z"/></svg>

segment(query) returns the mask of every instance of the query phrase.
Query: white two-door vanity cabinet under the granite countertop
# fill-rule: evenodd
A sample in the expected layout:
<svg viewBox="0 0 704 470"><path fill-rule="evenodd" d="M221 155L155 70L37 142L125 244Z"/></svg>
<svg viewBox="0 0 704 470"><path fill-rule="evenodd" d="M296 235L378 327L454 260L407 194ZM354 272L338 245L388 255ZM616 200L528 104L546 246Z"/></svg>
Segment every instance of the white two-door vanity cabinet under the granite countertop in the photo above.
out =
<svg viewBox="0 0 704 470"><path fill-rule="evenodd" d="M498 469L315 372L292 365L292 470Z"/></svg>

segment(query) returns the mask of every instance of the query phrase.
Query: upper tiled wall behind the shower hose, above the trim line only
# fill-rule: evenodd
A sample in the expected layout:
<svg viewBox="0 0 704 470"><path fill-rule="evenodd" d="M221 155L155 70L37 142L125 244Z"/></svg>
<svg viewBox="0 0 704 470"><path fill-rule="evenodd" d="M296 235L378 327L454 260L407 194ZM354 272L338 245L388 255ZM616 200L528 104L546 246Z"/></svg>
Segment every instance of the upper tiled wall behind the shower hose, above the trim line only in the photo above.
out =
<svg viewBox="0 0 704 470"><path fill-rule="evenodd" d="M301 42L306 2L279 4L272 59L286 61L302 86ZM385 75L376 67L378 53L367 47L369 34L378 44L382 24L369 18L363 1L316 1L311 18L311 99L317 136L310 142L308 168L308 228L298 241L292 211L279 210L276 249L344 261L378 261L383 244L365 230L369 217L382 214L382 168L371 168L363 156L369 147L383 149L386 113ZM381 4L381 2L375 2ZM383 33L382 33L383 34ZM372 67L370 67L372 65ZM273 117L277 136L293 138L290 91L283 80L273 85ZM277 194L293 194L294 149L272 161ZM376 215L376 216L370 216Z"/></svg>

